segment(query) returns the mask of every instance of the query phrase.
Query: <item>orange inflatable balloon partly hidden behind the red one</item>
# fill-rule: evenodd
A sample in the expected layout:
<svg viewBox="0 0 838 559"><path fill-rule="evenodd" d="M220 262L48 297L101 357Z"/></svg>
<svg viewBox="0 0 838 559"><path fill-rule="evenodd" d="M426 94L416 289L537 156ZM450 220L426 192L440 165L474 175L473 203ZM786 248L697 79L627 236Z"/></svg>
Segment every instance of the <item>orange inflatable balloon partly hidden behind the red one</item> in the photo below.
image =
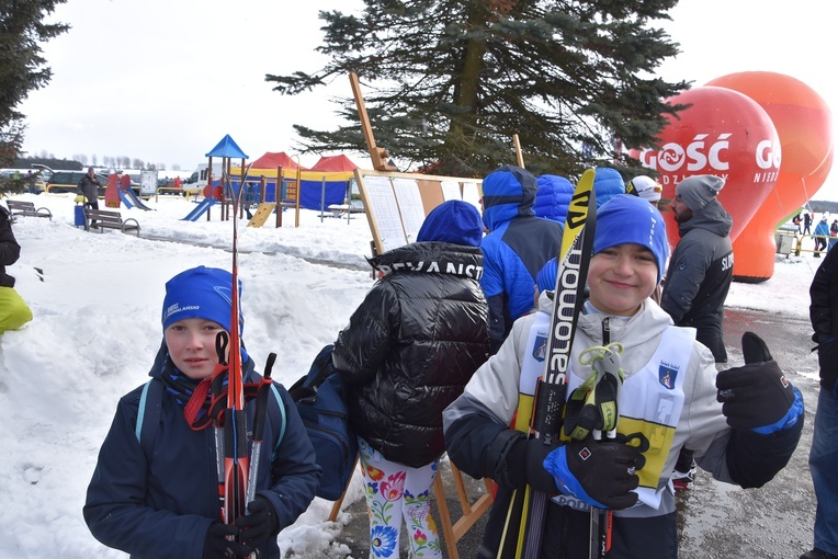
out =
<svg viewBox="0 0 838 559"><path fill-rule="evenodd" d="M812 88L782 73L731 73L707 85L756 101L780 136L782 163L774 192L734 241L734 278L763 282L774 273L774 229L815 195L833 167L831 113Z"/></svg>

